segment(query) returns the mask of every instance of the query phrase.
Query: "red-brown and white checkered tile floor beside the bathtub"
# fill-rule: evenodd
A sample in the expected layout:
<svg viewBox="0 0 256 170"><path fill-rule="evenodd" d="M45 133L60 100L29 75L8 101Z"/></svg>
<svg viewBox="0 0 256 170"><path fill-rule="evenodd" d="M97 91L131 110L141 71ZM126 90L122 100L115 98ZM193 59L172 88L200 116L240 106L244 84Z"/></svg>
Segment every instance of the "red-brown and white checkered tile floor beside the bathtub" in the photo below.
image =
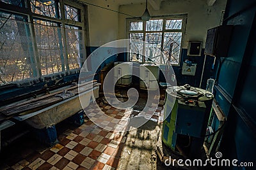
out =
<svg viewBox="0 0 256 170"><path fill-rule="evenodd" d="M161 101L163 103L163 101ZM131 117L131 110L118 110L111 106L101 106L100 109L120 121L101 123L106 126L118 124L125 126L122 121L125 117ZM99 108L91 104L86 110L86 115L98 118ZM161 120L163 105L159 105L150 119L154 122ZM149 115L150 115L149 114ZM148 116L148 115L146 115ZM116 169L120 162L122 150L125 146L127 134L125 132L106 131L93 124L92 120L85 117L84 124L75 129L67 129L58 135L60 143L52 148L26 148L15 160L6 161L2 169ZM6 159L8 160L8 159Z"/></svg>

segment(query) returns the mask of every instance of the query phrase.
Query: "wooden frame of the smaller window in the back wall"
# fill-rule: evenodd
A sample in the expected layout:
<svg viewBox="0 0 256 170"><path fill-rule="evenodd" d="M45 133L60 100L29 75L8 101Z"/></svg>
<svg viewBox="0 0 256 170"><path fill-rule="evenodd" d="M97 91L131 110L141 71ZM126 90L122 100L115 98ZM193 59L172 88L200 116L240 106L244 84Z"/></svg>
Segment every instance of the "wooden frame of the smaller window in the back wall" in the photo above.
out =
<svg viewBox="0 0 256 170"><path fill-rule="evenodd" d="M143 33L143 41L146 39L147 33L154 33L154 32L160 32L162 34L161 39L161 52L163 52L164 48L164 34L167 32L181 32L181 43L180 43L180 54L179 54L179 62L178 64L172 64L172 66L180 66L180 58L182 53L182 46L184 44L185 39L185 32L186 32L186 23L187 23L187 14L180 14L180 15L164 15L164 16L152 16L150 20L157 20L157 19L163 19L163 29L162 31L146 31L146 22L143 21L141 18L127 18L126 20L126 36L129 39L129 34L131 33ZM182 27L181 29L166 29L166 20L182 20ZM143 30L142 31L130 31L130 23L131 22L143 22ZM127 55L128 59L130 61L130 53ZM142 62L145 62L145 43L143 45L143 59ZM160 63L159 65L165 66L165 63Z"/></svg>

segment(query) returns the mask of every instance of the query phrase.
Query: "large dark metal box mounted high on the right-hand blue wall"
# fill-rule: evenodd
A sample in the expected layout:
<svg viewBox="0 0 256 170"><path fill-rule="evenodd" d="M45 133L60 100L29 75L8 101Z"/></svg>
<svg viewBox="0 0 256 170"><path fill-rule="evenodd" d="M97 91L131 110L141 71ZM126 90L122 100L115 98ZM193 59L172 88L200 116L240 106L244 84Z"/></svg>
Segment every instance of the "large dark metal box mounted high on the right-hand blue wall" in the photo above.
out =
<svg viewBox="0 0 256 170"><path fill-rule="evenodd" d="M233 25L220 25L208 29L204 53L216 57L227 57Z"/></svg>

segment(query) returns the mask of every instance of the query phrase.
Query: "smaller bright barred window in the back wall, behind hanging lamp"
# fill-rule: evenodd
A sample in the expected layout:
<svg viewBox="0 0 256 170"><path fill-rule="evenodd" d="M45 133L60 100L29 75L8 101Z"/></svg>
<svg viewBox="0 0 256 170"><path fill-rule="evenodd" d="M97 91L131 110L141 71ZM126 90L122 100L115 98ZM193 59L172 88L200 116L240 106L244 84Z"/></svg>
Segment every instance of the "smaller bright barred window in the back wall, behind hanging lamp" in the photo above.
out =
<svg viewBox="0 0 256 170"><path fill-rule="evenodd" d="M185 19L184 15L149 21L129 19L129 60L166 64L169 59L172 65L179 65Z"/></svg>

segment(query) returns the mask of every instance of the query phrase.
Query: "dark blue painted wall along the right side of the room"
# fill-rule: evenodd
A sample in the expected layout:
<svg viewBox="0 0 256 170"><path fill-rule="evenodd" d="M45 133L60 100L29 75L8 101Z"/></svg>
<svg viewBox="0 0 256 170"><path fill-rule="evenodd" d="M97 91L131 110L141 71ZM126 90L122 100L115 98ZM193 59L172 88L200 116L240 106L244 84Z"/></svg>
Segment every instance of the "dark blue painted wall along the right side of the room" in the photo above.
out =
<svg viewBox="0 0 256 170"><path fill-rule="evenodd" d="M228 57L221 57L216 101L227 115L220 143L223 157L239 162L253 162L253 167L223 169L255 169L256 140L256 2L228 0L224 25L234 25ZM215 73L218 67L215 67ZM221 89L221 90L218 90Z"/></svg>

